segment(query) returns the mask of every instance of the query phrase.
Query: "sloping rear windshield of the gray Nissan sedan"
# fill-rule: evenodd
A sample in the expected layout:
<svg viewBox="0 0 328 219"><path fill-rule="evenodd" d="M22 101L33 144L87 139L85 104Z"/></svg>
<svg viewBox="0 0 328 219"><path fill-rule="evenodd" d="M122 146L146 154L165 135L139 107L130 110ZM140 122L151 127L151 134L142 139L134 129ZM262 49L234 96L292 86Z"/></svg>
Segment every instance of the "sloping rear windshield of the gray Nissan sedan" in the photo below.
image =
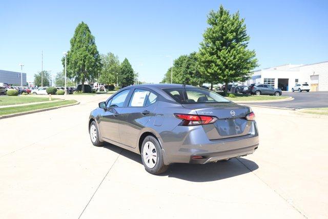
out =
<svg viewBox="0 0 328 219"><path fill-rule="evenodd" d="M226 103L228 99L221 95L204 88L185 87L185 88L169 88L163 89L166 93L172 96L176 102L180 104L195 104L195 103Z"/></svg>

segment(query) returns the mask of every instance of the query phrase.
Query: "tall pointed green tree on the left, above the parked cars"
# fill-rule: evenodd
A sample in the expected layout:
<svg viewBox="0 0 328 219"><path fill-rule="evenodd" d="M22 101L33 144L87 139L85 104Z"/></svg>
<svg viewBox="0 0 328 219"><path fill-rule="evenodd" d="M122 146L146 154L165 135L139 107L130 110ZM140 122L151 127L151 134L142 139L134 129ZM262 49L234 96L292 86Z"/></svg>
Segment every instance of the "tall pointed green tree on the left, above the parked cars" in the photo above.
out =
<svg viewBox="0 0 328 219"><path fill-rule="evenodd" d="M81 82L84 91L85 81L93 81L101 69L100 55L87 24L81 22L77 25L70 43L71 48L67 52L67 76ZM65 58L61 61L65 67Z"/></svg>

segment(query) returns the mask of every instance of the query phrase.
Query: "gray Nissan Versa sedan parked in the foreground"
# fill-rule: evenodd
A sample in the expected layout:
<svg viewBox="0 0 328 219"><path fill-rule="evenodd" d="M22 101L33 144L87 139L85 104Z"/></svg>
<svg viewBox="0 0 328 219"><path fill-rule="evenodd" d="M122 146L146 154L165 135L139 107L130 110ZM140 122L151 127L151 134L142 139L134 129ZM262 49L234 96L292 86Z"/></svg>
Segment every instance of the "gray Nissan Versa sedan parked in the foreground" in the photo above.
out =
<svg viewBox="0 0 328 219"><path fill-rule="evenodd" d="M165 172L172 163L206 164L253 153L255 114L204 88L135 85L99 103L89 117L91 142L109 142L141 154L145 169Z"/></svg>

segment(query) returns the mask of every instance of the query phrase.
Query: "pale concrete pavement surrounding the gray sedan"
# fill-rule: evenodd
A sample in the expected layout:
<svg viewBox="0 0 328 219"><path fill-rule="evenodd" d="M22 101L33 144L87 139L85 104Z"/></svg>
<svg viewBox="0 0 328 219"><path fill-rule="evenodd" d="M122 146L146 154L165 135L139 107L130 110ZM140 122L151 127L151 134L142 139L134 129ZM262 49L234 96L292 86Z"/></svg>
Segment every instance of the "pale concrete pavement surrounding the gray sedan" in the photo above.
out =
<svg viewBox="0 0 328 219"><path fill-rule="evenodd" d="M137 154L92 146L87 118L105 95L73 97L81 104L0 120L2 218L328 217L327 119L253 108L253 155L155 176Z"/></svg>

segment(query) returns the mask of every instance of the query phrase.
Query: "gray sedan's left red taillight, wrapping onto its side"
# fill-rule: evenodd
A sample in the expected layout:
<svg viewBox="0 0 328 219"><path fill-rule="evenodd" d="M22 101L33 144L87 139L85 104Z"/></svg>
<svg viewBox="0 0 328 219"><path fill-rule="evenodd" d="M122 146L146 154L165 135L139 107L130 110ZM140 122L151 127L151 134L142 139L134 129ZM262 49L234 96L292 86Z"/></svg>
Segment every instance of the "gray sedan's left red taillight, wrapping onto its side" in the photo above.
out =
<svg viewBox="0 0 328 219"><path fill-rule="evenodd" d="M182 120L181 126L198 126L212 124L217 120L215 116L209 115L191 115L174 113L174 116Z"/></svg>

